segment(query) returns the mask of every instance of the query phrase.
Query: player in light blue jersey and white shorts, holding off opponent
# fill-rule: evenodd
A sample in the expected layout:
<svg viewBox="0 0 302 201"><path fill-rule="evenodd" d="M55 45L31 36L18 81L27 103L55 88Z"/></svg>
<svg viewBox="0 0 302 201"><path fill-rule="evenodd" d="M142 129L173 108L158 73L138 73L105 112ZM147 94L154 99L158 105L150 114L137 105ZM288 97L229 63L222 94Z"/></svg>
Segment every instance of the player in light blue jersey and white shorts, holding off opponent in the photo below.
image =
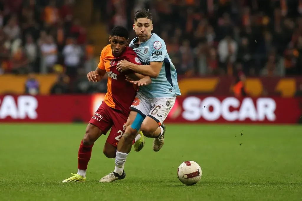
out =
<svg viewBox="0 0 302 201"><path fill-rule="evenodd" d="M153 24L149 11L137 11L134 14L133 30L138 37L129 46L137 53L143 65L122 60L117 64L117 70L134 71L137 77L132 77L130 82L137 84L139 90L130 107L126 130L117 145L114 171L101 178L100 182L125 178L124 164L139 130L146 137L154 138L154 151L162 148L165 134L165 125L162 123L171 111L176 96L181 95L175 66L169 58L165 42L151 33ZM141 86L145 81L142 75L151 77L151 84Z"/></svg>

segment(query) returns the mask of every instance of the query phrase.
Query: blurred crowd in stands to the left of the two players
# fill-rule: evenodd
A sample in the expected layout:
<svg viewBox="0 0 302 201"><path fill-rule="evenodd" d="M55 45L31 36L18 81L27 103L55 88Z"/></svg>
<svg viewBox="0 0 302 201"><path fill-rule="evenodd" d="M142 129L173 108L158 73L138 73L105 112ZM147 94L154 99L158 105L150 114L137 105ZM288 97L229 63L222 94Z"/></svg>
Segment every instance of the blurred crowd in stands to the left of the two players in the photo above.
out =
<svg viewBox="0 0 302 201"><path fill-rule="evenodd" d="M73 17L74 3L0 0L0 74L29 74L26 91L34 94L38 83L32 73L57 73L52 93L81 92L76 85L98 61L85 27Z"/></svg>

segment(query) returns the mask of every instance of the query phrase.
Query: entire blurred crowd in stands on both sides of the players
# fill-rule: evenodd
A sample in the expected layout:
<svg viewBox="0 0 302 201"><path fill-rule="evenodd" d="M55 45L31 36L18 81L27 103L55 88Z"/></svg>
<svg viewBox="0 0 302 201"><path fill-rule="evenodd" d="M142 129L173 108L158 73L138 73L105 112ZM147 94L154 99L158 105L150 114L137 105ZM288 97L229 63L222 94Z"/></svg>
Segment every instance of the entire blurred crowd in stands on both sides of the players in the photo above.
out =
<svg viewBox="0 0 302 201"><path fill-rule="evenodd" d="M98 57L75 3L0 0L0 74L58 73L53 93L106 91L105 81L86 83ZM132 39L133 13L144 8L179 76L302 74L302 0L93 0L91 23L99 12L108 33L122 25Z"/></svg>

